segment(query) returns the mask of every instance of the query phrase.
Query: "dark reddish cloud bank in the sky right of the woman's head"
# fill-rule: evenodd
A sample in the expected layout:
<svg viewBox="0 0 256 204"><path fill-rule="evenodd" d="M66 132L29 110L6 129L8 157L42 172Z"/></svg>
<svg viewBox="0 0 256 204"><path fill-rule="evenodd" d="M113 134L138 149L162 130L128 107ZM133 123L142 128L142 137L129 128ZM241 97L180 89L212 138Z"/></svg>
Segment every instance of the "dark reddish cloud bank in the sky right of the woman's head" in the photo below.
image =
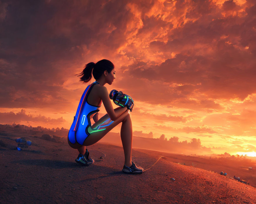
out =
<svg viewBox="0 0 256 204"><path fill-rule="evenodd" d="M182 12L186 4L184 1L177 2L177 13ZM191 4L194 7L190 5L193 8L190 11L199 9L200 2ZM232 10L239 7L232 1L223 4L225 9L228 9L227 6ZM152 50L180 54L176 54L175 58L166 59L158 66L143 65L136 68L137 62L128 66L130 71L127 75L133 75L133 87L145 90L144 86L138 86L141 79L162 80L170 84L185 84L175 88L177 92L180 89L179 97L186 97L196 91L215 99L239 97L242 100L256 91L256 46L253 38L256 35L253 28L256 24L256 6L248 6L241 14L235 13L229 18L221 16L224 8L221 9L212 3L207 8L209 9L204 11L199 9L197 20L187 22L169 32L167 43L158 40L149 43ZM159 90L165 93L167 100L173 99L175 96L170 94L170 91L165 91L164 86L166 85L159 86ZM186 86L190 86L189 89L183 90ZM158 95L155 91L151 93ZM145 99L141 96L140 100L143 98ZM155 100L159 101L159 97L155 97Z"/></svg>

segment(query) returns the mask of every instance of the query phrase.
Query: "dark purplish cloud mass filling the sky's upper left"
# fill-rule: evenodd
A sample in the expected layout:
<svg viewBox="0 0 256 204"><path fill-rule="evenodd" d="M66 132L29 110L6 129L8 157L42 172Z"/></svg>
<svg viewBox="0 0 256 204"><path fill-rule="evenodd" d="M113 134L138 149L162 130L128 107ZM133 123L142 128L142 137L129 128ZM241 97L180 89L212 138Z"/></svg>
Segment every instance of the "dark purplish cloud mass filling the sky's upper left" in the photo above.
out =
<svg viewBox="0 0 256 204"><path fill-rule="evenodd" d="M84 63L84 48L113 52L133 18L126 1L0 3L1 107L66 103L61 86Z"/></svg>

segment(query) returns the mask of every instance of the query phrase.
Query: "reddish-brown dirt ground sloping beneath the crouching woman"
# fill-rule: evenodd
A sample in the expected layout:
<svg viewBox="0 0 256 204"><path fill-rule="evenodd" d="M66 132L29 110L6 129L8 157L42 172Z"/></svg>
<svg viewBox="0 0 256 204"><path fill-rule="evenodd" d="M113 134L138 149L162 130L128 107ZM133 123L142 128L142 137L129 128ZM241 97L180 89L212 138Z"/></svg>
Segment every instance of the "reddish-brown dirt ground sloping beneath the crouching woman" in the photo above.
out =
<svg viewBox="0 0 256 204"><path fill-rule="evenodd" d="M18 151L15 142L18 136L26 136L32 145ZM255 187L201 169L204 165L208 170L217 168L217 164L206 158L133 149L132 160L144 170L159 157L165 157L141 175L127 175L121 171L124 154L119 146L102 143L89 146L93 159L104 157L102 152L106 157L83 167L74 161L78 151L67 142L18 133L0 135L0 141L0 203L3 204L256 203ZM254 174L247 178L253 180Z"/></svg>

